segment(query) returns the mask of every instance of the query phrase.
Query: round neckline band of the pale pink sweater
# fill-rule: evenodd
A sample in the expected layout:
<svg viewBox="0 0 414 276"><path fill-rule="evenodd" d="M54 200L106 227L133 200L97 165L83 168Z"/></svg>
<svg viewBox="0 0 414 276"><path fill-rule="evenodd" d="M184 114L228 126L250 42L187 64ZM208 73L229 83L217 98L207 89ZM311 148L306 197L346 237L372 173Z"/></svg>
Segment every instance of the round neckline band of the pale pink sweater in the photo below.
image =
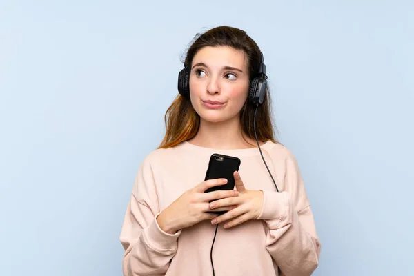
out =
<svg viewBox="0 0 414 276"><path fill-rule="evenodd" d="M199 152L201 154L221 154L221 155L236 155L236 156L255 156L260 155L259 149L257 147L255 148L235 148L235 149L219 149L219 148L206 148L203 146L197 146L195 144L191 144L188 141L184 141L182 143L182 146L184 148L188 148L189 150L192 150L193 152ZM275 146L275 143L273 141L266 141L263 145L260 146L260 148L263 150L270 150Z"/></svg>

